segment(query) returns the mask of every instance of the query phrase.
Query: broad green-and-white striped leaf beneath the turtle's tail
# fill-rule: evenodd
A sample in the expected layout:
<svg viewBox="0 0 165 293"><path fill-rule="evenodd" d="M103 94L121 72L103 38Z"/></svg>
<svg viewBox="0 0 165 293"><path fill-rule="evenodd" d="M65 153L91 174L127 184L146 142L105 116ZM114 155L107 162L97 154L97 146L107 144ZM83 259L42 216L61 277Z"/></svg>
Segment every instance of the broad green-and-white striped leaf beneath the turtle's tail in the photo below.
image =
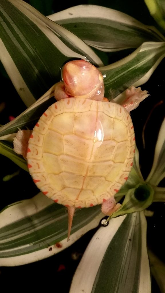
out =
<svg viewBox="0 0 165 293"><path fill-rule="evenodd" d="M0 212L0 266L23 265L54 255L96 227L102 217L100 206L77 209L67 242L64 206L52 203L41 192L9 205Z"/></svg>

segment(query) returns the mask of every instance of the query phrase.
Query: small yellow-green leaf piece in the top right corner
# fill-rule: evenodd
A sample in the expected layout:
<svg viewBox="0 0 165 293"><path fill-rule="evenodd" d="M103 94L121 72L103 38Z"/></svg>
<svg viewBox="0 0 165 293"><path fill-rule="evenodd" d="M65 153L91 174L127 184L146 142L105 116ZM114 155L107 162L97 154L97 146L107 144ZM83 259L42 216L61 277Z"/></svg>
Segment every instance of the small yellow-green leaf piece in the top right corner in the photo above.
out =
<svg viewBox="0 0 165 293"><path fill-rule="evenodd" d="M165 30L165 3L164 0L144 0L150 14L155 21Z"/></svg>

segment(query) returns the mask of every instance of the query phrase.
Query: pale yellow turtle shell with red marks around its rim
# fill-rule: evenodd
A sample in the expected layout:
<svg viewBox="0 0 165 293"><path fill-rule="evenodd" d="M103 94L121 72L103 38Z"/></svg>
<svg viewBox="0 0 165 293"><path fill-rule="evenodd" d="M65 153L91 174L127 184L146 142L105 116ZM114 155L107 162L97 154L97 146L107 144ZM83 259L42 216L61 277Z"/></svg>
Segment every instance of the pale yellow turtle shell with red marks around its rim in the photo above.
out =
<svg viewBox="0 0 165 293"><path fill-rule="evenodd" d="M133 164L132 120L121 105L66 98L51 105L29 139L29 172L54 202L91 207L119 191Z"/></svg>

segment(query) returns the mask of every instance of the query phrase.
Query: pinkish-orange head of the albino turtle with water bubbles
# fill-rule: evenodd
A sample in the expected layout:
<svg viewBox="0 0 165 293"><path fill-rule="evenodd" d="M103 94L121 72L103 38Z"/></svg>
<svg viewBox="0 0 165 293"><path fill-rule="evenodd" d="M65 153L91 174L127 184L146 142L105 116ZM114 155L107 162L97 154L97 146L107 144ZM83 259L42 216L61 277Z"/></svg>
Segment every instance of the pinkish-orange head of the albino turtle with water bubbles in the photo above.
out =
<svg viewBox="0 0 165 293"><path fill-rule="evenodd" d="M72 97L102 100L104 82L101 72L85 60L66 63L62 69L65 91Z"/></svg>

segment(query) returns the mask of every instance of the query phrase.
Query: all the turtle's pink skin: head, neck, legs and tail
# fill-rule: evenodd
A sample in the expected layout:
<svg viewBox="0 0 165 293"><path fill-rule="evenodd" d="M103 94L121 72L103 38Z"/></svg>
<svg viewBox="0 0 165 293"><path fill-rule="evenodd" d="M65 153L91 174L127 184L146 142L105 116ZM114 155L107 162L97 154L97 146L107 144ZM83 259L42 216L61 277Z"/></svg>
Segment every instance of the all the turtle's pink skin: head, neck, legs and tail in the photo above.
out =
<svg viewBox="0 0 165 293"><path fill-rule="evenodd" d="M87 61L74 60L66 63L62 69L62 79L63 82L55 84L54 96L56 100L75 97L109 102L104 97L104 82L101 72ZM123 107L130 112L137 108L139 103L149 95L147 91L142 91L141 88L132 86L125 91L125 96ZM14 139L14 151L17 154L22 154L25 159L30 134L29 130L19 130ZM111 215L120 206L120 204L116 204L115 197L112 196L102 203L102 212L106 215ZM68 241L74 212L74 206L68 207Z"/></svg>

